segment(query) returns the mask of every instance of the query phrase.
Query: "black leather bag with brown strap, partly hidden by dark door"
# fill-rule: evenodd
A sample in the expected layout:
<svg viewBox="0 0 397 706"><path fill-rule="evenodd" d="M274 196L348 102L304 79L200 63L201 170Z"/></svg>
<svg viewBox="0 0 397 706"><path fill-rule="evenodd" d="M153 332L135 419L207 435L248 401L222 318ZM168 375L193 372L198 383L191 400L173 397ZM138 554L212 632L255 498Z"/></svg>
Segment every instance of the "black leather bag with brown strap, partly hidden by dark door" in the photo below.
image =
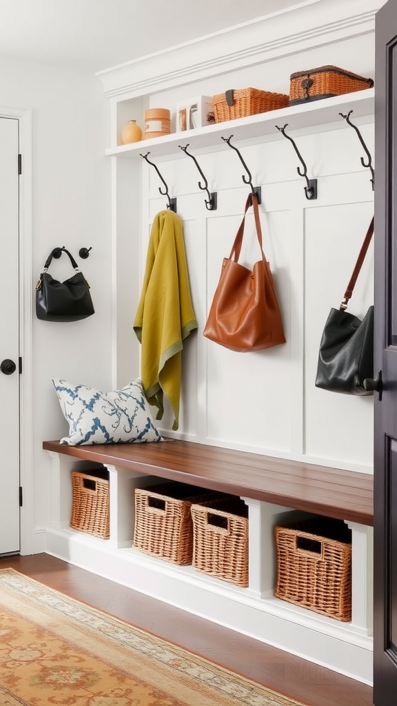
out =
<svg viewBox="0 0 397 706"><path fill-rule="evenodd" d="M319 347L316 387L345 395L373 395L366 380L374 377L374 307L369 306L360 320L346 311L369 242L374 233L374 219L362 244L350 277L345 298L339 309L331 309Z"/></svg>

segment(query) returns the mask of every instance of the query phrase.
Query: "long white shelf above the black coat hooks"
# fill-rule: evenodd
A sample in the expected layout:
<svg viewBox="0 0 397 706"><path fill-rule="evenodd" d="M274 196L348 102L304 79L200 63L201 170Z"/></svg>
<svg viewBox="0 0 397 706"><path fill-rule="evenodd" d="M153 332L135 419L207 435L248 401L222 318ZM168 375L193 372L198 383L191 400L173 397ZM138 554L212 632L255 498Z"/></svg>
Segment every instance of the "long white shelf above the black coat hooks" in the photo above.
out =
<svg viewBox="0 0 397 706"><path fill-rule="evenodd" d="M221 137L230 137L231 134L235 138L234 141L266 136L282 139L276 125L288 124L289 133L302 128L313 130L319 126L324 126L324 129L327 126L329 129L329 124L333 124L334 128L343 128L345 122L339 113L348 114L350 110L353 112L352 119L354 121L363 116L373 116L374 88L325 98L309 104L259 113L247 118L229 120L183 133L172 133L164 138L153 138L141 140L131 145L120 145L107 149L105 153L107 156L128 157L129 159L137 159L142 153L146 154L147 152L150 152L152 156L165 157L180 153L181 150L178 147L180 143L184 145L193 143L195 149L221 149L225 146Z"/></svg>

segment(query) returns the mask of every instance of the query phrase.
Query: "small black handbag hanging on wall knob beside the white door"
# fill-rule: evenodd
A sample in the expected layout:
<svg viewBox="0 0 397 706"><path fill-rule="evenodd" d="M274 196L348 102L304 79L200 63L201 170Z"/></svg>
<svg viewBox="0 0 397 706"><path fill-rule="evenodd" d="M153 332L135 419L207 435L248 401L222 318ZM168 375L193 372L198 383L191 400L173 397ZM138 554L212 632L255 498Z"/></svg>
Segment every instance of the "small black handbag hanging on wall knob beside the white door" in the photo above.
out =
<svg viewBox="0 0 397 706"><path fill-rule="evenodd" d="M66 253L75 270L73 277L58 282L47 270L52 258L58 253ZM36 285L36 316L42 321L79 321L95 313L93 300L83 273L76 260L66 248L54 248L45 261L42 273Z"/></svg>

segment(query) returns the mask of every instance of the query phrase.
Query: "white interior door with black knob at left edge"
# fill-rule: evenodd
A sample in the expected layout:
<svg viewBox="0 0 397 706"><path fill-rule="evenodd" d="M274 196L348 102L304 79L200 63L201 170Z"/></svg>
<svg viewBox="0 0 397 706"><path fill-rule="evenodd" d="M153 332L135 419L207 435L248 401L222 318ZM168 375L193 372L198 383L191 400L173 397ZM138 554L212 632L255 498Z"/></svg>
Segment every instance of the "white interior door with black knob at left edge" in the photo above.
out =
<svg viewBox="0 0 397 706"><path fill-rule="evenodd" d="M20 549L18 123L0 117L0 554Z"/></svg>

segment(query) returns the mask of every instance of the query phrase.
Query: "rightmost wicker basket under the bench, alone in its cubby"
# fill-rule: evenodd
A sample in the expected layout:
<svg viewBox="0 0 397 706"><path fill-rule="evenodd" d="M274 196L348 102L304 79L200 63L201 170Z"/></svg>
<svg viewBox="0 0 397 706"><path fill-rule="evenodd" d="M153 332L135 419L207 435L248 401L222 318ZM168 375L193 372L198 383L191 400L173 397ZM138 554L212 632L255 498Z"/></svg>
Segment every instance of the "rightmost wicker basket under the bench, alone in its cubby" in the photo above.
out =
<svg viewBox="0 0 397 706"><path fill-rule="evenodd" d="M340 621L350 621L351 531L328 517L275 527L275 596Z"/></svg>

